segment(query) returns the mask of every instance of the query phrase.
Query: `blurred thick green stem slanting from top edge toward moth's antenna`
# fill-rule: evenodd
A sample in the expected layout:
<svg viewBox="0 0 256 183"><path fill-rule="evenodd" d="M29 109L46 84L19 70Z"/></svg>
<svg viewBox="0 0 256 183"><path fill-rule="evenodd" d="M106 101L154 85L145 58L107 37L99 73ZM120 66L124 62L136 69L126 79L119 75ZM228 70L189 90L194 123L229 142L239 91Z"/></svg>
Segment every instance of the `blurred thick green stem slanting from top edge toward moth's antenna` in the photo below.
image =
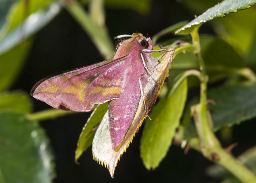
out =
<svg viewBox="0 0 256 183"><path fill-rule="evenodd" d="M105 59L110 59L115 51L113 43L108 36L107 29L100 27L90 18L84 8L76 0L63 0L66 9L73 18L84 28L93 43Z"/></svg>

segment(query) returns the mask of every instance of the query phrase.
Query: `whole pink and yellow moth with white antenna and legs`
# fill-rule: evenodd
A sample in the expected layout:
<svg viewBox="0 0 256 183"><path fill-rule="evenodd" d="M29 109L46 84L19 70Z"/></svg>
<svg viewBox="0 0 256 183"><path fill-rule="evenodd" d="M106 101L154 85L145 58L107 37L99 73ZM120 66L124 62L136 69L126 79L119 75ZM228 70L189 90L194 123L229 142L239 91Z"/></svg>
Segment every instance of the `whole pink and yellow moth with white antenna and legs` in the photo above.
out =
<svg viewBox="0 0 256 183"><path fill-rule="evenodd" d="M143 88L148 78L163 84L152 76L151 70L157 65L152 52L170 52L153 50L151 39L140 33L116 38L125 37L127 39L119 43L113 59L46 77L37 82L30 93L34 98L66 111L91 111L94 104L108 102L113 151L117 151L124 140L141 97L147 115Z"/></svg>

